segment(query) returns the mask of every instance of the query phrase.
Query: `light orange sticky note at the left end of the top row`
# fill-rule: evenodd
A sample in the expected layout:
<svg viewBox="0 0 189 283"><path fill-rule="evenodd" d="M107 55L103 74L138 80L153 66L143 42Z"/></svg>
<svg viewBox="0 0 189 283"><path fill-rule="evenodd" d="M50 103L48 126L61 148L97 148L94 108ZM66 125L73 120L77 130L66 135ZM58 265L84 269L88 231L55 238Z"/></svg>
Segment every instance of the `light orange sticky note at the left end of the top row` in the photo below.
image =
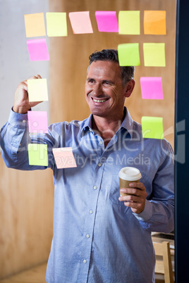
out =
<svg viewBox="0 0 189 283"><path fill-rule="evenodd" d="M26 37L43 37L46 35L44 13L24 15Z"/></svg>

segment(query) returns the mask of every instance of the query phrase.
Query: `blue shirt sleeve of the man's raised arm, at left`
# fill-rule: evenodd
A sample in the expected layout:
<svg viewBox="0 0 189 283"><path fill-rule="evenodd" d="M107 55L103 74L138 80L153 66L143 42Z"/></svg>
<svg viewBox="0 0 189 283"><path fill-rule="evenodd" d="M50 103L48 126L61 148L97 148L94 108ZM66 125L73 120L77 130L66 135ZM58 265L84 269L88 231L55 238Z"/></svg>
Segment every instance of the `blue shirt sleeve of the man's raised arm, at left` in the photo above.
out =
<svg viewBox="0 0 189 283"><path fill-rule="evenodd" d="M18 170L43 170L54 166L51 134L33 134L28 132L28 114L15 113L11 110L8 122L0 132L2 157L8 168ZM48 166L29 165L28 144L47 144Z"/></svg>

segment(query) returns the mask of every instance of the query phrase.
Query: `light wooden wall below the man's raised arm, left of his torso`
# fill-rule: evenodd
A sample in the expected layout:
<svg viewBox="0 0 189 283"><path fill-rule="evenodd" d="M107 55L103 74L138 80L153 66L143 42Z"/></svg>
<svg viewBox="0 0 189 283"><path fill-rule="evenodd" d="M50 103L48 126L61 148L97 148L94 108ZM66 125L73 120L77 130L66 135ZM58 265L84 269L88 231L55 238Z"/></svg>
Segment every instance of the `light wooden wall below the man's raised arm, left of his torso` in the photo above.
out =
<svg viewBox="0 0 189 283"><path fill-rule="evenodd" d="M53 229L51 170L6 168L0 155L0 279L47 261Z"/></svg>

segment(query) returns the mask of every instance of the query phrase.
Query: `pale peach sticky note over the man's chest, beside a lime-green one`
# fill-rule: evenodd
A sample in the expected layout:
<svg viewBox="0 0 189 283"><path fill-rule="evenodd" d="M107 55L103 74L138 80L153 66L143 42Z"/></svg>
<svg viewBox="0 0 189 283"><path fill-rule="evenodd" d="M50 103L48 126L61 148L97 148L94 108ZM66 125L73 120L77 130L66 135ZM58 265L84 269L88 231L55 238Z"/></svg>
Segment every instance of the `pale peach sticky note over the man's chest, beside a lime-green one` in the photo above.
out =
<svg viewBox="0 0 189 283"><path fill-rule="evenodd" d="M59 149L52 149L56 167L61 168L73 168L77 167L73 151L71 147L61 147Z"/></svg>

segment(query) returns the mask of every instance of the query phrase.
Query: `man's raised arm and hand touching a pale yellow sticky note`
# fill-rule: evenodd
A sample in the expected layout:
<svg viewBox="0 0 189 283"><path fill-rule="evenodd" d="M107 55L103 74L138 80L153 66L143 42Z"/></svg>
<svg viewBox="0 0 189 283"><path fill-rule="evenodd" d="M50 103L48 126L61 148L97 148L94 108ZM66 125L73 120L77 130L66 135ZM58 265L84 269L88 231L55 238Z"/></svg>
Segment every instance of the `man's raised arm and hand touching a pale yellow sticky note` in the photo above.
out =
<svg viewBox="0 0 189 283"><path fill-rule="evenodd" d="M37 80L39 75L31 79ZM29 165L28 144L47 144L49 167L52 167L54 158L51 147L53 138L51 134L37 134L30 137L28 132L28 111L32 106L40 103L29 102L27 80L21 82L16 89L13 110L9 115L8 122L2 127L0 133L2 156L6 166L19 170L46 169L47 166Z"/></svg>

